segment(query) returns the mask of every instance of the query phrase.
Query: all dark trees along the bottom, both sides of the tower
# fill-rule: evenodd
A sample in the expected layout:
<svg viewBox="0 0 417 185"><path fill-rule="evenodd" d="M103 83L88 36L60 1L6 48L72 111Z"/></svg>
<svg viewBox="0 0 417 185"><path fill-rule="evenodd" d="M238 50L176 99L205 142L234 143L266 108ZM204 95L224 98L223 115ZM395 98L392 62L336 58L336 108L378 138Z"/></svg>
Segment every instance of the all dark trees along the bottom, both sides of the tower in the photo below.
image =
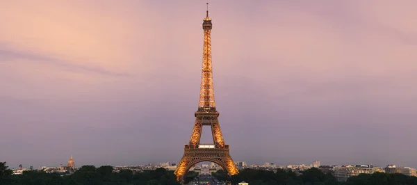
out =
<svg viewBox="0 0 417 185"><path fill-rule="evenodd" d="M111 166L82 166L72 175L60 175L38 170L24 171L22 175L12 175L6 162L0 163L1 185L179 185L173 171L165 168L156 170L144 170L132 172L120 170L114 172ZM213 177L220 181L228 179L223 170L212 173ZM186 182L190 182L198 176L197 172L188 172ZM409 177L401 174L386 174L375 172L373 174L361 174L350 177L347 182L337 182L331 173L323 173L318 168L304 170L301 175L296 175L291 170L240 170L237 175L231 176L232 184L249 182L251 185L408 185L417 184L417 177Z"/></svg>

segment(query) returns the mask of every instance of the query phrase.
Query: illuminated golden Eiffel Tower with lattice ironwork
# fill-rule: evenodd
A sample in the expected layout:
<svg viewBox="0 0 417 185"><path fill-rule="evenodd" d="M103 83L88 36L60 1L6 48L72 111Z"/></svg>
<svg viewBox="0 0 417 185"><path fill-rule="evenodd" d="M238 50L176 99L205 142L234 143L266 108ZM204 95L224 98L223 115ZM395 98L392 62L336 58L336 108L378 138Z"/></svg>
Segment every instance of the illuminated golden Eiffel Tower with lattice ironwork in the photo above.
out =
<svg viewBox="0 0 417 185"><path fill-rule="evenodd" d="M217 163L229 177L238 173L233 159L229 154L229 145L224 144L222 131L219 124L219 113L215 110L213 72L211 67L211 19L208 17L208 3L206 18L203 22L204 47L203 47L203 67L202 82L200 86L199 104L195 112L195 123L190 143L185 145L184 154L178 163L174 174L177 180L183 182L188 170L195 164L203 161ZM202 127L211 126L213 134L213 144L202 144Z"/></svg>

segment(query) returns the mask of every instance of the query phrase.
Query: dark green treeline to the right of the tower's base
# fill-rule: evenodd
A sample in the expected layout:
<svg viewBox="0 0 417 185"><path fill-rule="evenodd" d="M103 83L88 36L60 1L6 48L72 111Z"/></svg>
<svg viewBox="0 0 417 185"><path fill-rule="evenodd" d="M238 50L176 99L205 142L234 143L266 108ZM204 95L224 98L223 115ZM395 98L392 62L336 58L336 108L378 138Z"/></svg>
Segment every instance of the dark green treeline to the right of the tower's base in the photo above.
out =
<svg viewBox="0 0 417 185"><path fill-rule="evenodd" d="M212 173L219 180L227 179L223 170ZM375 172L350 177L346 182L338 182L331 173L324 174L318 168L304 170L296 175L291 170L277 169L274 171L245 169L231 176L231 184L247 182L250 185L408 185L417 184L417 177L402 174L386 174Z"/></svg>

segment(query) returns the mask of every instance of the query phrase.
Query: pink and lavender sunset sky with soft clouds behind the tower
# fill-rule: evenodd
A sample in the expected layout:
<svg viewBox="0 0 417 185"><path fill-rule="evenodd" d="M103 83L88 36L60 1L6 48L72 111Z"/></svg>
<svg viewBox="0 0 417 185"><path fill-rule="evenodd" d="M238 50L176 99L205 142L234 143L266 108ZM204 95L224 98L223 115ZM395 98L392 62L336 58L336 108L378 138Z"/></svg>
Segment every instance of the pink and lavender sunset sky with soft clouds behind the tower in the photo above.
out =
<svg viewBox="0 0 417 185"><path fill-rule="evenodd" d="M208 3L234 161L417 167L417 1ZM191 0L1 1L0 161L179 161L205 11Z"/></svg>

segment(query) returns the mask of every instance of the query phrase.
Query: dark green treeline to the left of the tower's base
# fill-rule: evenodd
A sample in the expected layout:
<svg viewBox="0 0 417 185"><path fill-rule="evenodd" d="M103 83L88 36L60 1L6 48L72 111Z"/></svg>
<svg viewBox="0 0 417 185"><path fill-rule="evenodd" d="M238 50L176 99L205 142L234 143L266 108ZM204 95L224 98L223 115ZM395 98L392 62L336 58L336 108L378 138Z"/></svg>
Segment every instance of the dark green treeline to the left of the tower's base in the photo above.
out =
<svg viewBox="0 0 417 185"><path fill-rule="evenodd" d="M197 177L196 172L189 172L186 182ZM1 185L179 185L173 171L165 168L132 172L120 170L113 172L111 166L82 166L72 175L59 175L38 170L27 170L22 175L12 175L6 163L0 163Z"/></svg>

